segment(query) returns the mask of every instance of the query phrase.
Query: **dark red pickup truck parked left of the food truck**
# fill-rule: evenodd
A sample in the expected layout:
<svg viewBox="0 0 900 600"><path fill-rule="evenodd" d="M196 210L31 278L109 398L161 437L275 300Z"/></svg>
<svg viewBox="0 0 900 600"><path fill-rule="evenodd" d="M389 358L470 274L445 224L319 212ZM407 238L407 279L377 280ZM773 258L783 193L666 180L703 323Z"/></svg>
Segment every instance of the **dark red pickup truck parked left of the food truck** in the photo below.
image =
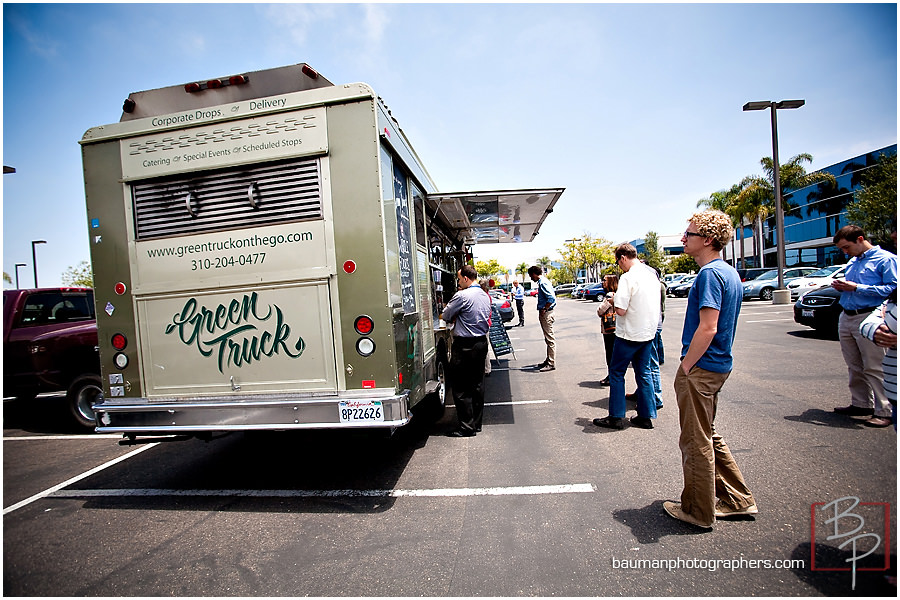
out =
<svg viewBox="0 0 900 600"><path fill-rule="evenodd" d="M93 290L3 290L3 396L59 391L75 420L95 427L103 388Z"/></svg>

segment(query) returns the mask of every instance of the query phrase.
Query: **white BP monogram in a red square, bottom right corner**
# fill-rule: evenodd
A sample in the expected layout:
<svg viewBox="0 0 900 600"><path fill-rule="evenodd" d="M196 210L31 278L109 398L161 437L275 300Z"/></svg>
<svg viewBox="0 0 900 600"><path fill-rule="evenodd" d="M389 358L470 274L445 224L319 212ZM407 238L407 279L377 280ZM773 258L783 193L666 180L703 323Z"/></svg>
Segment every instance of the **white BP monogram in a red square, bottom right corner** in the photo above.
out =
<svg viewBox="0 0 900 600"><path fill-rule="evenodd" d="M845 496L814 503L810 569L848 571L853 590L857 572L888 570L890 520L887 502L860 502L855 496Z"/></svg>

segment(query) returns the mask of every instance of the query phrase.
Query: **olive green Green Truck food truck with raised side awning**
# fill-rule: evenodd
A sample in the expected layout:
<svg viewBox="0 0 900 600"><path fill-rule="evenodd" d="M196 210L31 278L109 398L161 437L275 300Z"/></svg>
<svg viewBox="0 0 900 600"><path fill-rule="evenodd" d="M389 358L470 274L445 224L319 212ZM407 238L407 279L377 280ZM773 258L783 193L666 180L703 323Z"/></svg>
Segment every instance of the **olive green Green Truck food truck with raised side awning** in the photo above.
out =
<svg viewBox="0 0 900 600"><path fill-rule="evenodd" d="M442 407L475 243L562 188L439 193L384 101L307 64L132 93L81 140L97 431L396 428Z"/></svg>

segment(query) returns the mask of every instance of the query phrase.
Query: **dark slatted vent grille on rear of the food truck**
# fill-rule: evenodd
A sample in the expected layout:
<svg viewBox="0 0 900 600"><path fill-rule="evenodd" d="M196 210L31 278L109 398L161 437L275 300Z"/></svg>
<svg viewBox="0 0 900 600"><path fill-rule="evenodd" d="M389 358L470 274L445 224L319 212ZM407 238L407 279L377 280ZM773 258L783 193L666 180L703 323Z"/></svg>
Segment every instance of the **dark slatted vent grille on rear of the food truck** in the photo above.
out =
<svg viewBox="0 0 900 600"><path fill-rule="evenodd" d="M322 218L315 158L143 181L132 196L139 240Z"/></svg>

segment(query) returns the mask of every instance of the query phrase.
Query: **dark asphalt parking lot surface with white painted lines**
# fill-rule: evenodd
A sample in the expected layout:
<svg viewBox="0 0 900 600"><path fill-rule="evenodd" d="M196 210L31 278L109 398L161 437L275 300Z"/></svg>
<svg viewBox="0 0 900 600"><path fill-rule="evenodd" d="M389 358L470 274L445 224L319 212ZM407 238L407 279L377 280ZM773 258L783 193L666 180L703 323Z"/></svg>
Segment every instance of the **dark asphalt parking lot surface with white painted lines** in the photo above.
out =
<svg viewBox="0 0 900 600"><path fill-rule="evenodd" d="M52 398L5 401L4 594L896 595L896 433L832 412L848 403L837 341L795 324L792 305L744 303L716 424L760 514L704 532L662 511L681 490L686 301L667 301L666 406L653 430L624 431L591 423L608 403L597 304L560 300L558 368L538 373L534 302L509 330L515 357L494 362L475 438L443 435L448 407L389 439L122 447L73 431ZM826 525L840 498L860 504ZM838 525L846 535L826 540ZM879 542L860 539L846 562L839 545L863 533Z"/></svg>

